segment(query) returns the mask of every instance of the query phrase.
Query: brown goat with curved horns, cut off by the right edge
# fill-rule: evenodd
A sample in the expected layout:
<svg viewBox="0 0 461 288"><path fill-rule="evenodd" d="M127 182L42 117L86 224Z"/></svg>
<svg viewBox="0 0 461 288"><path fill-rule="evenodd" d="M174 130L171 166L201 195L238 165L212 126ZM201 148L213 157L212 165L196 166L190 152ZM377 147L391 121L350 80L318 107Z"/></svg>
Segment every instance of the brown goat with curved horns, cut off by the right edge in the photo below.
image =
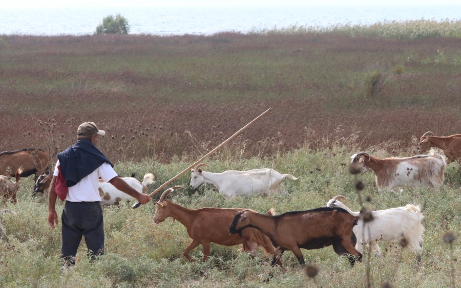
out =
<svg viewBox="0 0 461 288"><path fill-rule="evenodd" d="M432 132L426 132L420 138L418 150L420 153L426 152L430 147L444 150L447 163L458 162L461 165L461 134L447 137L436 137Z"/></svg>

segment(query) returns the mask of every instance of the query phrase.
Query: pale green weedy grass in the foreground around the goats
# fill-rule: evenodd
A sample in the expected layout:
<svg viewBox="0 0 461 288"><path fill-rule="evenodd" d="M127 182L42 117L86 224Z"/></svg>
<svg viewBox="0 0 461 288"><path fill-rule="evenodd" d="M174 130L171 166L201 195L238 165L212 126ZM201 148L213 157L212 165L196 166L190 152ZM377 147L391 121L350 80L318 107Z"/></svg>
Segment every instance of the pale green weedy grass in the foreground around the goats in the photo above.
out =
<svg viewBox="0 0 461 288"><path fill-rule="evenodd" d="M241 207L265 213L274 207L278 213L306 210L324 206L330 197L343 194L349 199L353 211L360 209L354 190L353 176L344 163L357 146L336 145L331 149L311 150L307 146L283 155L262 159L241 159L229 149L206 161L209 171L228 169L253 169L272 167L283 173L299 176L282 185L284 193L260 197L234 198L225 201L212 186L200 186L197 191L178 190L172 195L174 202L188 208ZM368 150L376 156L388 156L384 149ZM399 156L406 156L401 154ZM183 170L193 160L173 160L170 164L141 161L116 166L121 175L137 173L141 179L153 172L157 182L151 191L171 176ZM184 175L175 185L188 186L190 175ZM380 243L385 256L371 257L371 284L379 287L389 282L393 287L447 287L451 286L451 261L449 246L441 235L453 230L461 231L461 168L449 164L445 184L441 191L406 188L402 195L380 193L373 186L374 175L360 174L366 184L364 195L370 195L369 207L387 209L408 203L421 205L425 215L423 257L418 266L408 248L396 243ZM22 179L17 205L2 205L2 209L15 211L4 214L2 224L10 242L0 241L0 286L2 287L311 287L316 286L299 269L291 252L283 256L284 268L272 268L269 257L259 254L255 259L238 252L239 247L212 246L212 257L200 260L201 246L191 252L196 261L190 263L181 256L190 239L185 228L168 218L160 225L153 224L155 205L131 209L123 203L120 208L104 209L106 230L106 255L89 264L85 258L85 245L81 245L78 263L74 268L59 273L60 225L52 230L47 224L48 201L45 197L31 197L32 180ZM195 192L195 193L194 193ZM62 204L57 204L58 214ZM347 260L338 257L331 247L303 251L306 262L315 264L320 272L316 277L321 287L363 287L366 261L349 267ZM453 247L455 281L461 285L458 259L461 248L455 241ZM365 259L365 258L364 258ZM268 283L262 281L273 272Z"/></svg>

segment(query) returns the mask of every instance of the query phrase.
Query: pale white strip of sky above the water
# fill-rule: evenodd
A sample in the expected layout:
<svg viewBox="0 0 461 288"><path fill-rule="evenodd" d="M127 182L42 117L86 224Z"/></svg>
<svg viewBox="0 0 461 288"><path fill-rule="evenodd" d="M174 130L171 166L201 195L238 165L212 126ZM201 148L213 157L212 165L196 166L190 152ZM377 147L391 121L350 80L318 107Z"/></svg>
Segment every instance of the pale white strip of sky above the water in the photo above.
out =
<svg viewBox="0 0 461 288"><path fill-rule="evenodd" d="M3 2L3 1L2 1ZM155 6L371 6L371 5L461 5L460 0L14 0L2 7L155 7ZM0 8L1 9L1 8Z"/></svg>

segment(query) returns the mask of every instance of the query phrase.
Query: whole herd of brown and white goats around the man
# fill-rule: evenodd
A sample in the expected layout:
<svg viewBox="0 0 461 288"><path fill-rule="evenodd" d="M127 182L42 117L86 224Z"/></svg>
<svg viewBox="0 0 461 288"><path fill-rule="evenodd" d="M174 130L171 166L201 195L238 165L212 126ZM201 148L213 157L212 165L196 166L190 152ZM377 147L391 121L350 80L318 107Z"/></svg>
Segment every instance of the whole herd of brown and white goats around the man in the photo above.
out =
<svg viewBox="0 0 461 288"><path fill-rule="evenodd" d="M354 167L373 172L379 190L395 190L405 185L436 190L444 182L446 158L448 162L461 163L461 134L436 137L432 132L426 132L420 138L418 150L424 153L431 147L443 149L445 156L434 149L419 156L385 159L376 158L367 152L358 152L351 156L350 162ZM36 148L0 153L0 195L4 202L11 199L13 203L17 203L20 177L32 174L35 174L33 193L44 193L52 179L47 173L49 164L48 153ZM190 188L195 189L202 183L210 183L226 199L250 194L269 195L277 192L285 179L298 179L274 169L211 173L203 171L202 166L207 165L201 163L191 169ZM13 176L16 182L11 180ZM146 186L154 182L154 175L145 174L142 182L137 181L134 175L123 180L137 191L145 193ZM198 245L202 245L206 260L210 255L209 245L214 242L225 246L242 244L241 251L249 253L254 253L261 246L266 253L273 255L273 265L281 265L283 252L289 250L303 265L305 262L301 248L320 249L331 245L338 255L347 255L353 265L362 258L364 245L370 245L374 254L381 257L377 241L395 241L402 238L407 240L418 261L421 260L425 231L421 222L424 216L420 207L412 204L371 211L372 221L364 219L361 212L351 211L346 206L346 197L341 195L329 200L326 207L280 215L270 209L267 214L259 214L240 208L188 209L166 200L166 195L177 188L182 187L165 190L156 202L154 223L159 224L167 217L172 217L186 227L192 242L184 249L183 255L189 260L191 256L188 252ZM99 192L101 205L104 206L118 205L120 201L129 201L130 198L103 181L99 183Z"/></svg>

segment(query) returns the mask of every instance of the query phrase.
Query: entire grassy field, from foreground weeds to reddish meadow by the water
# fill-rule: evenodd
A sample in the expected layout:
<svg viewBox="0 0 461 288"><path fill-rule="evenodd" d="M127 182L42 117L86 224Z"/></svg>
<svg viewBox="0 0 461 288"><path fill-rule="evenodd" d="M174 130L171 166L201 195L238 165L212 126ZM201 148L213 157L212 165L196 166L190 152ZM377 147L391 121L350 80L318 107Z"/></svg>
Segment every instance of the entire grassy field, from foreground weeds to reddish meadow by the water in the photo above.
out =
<svg viewBox="0 0 461 288"><path fill-rule="evenodd" d="M380 242L384 257L364 255L350 267L331 247L303 251L319 269L310 279L294 254L271 267L262 250L190 242L184 226L155 225L155 205L104 209L106 255L90 264L81 243L75 267L60 272L60 225L47 224L46 196L20 180L19 203L0 201L9 242L0 240L0 287L453 287L461 285L461 167L451 163L439 191L404 187L379 192L370 172L350 175L349 157L412 156L426 131L461 131L461 23L421 20L328 29L290 27L211 36L0 35L0 151L50 152L75 142L77 126L107 131L98 147L122 176L155 174L153 191L240 127L273 110L205 162L211 172L274 168L299 177L281 193L226 201L212 185L171 193L188 208L240 207L278 213L325 206L348 197L365 206L421 206L421 263L408 247ZM190 174L174 182L188 187ZM158 198L158 194L155 198ZM58 214L64 205L57 204ZM4 209L8 211L4 211ZM263 282L269 274L274 277Z"/></svg>

